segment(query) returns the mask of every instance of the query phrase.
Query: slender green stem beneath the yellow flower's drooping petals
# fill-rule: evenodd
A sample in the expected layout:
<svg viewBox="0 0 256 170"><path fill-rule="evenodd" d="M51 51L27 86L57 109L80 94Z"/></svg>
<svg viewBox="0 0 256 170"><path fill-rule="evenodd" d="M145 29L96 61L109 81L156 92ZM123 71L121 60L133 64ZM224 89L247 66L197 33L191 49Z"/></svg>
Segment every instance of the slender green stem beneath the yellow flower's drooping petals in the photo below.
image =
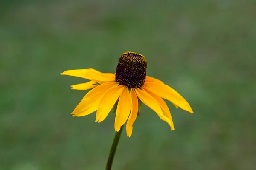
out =
<svg viewBox="0 0 256 170"><path fill-rule="evenodd" d="M120 130L118 132L116 132L115 137L113 139L113 143L109 152L109 156L108 156L108 162L106 165L106 170L111 170L112 164L113 164L113 159L115 157L116 154L116 148L118 146L119 143L119 139L121 137L122 134L122 130L124 128L124 125L121 126Z"/></svg>

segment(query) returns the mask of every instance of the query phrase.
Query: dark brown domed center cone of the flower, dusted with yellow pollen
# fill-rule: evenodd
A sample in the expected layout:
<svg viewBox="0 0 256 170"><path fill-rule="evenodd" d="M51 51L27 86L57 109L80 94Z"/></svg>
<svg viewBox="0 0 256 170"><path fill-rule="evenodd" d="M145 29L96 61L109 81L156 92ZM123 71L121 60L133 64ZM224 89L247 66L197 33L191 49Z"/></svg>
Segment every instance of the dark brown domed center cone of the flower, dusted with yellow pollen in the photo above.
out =
<svg viewBox="0 0 256 170"><path fill-rule="evenodd" d="M141 54L125 52L116 67L116 82L130 88L141 87L146 78L147 61Z"/></svg>

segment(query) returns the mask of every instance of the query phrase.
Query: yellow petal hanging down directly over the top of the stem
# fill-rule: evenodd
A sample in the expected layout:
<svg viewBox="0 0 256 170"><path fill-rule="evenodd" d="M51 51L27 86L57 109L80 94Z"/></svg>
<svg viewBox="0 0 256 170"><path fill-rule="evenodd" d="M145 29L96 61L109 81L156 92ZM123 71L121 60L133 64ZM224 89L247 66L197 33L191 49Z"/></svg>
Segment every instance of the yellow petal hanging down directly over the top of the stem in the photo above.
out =
<svg viewBox="0 0 256 170"><path fill-rule="evenodd" d="M116 108L115 130L118 132L129 117L131 111L131 96L129 88L126 86L119 97Z"/></svg>

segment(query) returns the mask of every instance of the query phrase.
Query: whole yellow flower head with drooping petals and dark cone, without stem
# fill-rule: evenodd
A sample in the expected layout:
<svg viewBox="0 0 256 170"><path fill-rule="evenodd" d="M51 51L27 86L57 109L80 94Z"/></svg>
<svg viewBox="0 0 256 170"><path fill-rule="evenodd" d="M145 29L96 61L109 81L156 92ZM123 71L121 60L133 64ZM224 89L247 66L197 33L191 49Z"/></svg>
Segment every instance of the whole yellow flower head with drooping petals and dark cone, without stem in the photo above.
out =
<svg viewBox="0 0 256 170"><path fill-rule="evenodd" d="M119 131L127 121L126 133L130 137L142 101L174 130L171 113L163 99L190 113L193 113L192 108L177 91L158 79L146 76L146 69L147 61L142 54L125 52L119 58L115 74L101 73L93 68L64 71L61 75L90 80L71 85L72 89L93 88L76 106L72 116L85 116L97 111L96 122L102 122L118 101L114 127Z"/></svg>

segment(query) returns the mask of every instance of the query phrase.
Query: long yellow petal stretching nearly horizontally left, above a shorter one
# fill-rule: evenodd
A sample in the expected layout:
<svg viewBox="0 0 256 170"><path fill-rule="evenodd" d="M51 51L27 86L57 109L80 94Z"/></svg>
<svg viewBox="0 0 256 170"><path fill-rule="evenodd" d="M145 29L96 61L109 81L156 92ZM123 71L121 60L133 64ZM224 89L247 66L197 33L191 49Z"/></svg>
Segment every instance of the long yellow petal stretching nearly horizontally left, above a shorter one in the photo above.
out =
<svg viewBox="0 0 256 170"><path fill-rule="evenodd" d="M78 70L67 70L61 73L61 75L81 77L89 79L95 82L113 82L115 81L115 74L101 73L92 68L90 69L78 69Z"/></svg>

